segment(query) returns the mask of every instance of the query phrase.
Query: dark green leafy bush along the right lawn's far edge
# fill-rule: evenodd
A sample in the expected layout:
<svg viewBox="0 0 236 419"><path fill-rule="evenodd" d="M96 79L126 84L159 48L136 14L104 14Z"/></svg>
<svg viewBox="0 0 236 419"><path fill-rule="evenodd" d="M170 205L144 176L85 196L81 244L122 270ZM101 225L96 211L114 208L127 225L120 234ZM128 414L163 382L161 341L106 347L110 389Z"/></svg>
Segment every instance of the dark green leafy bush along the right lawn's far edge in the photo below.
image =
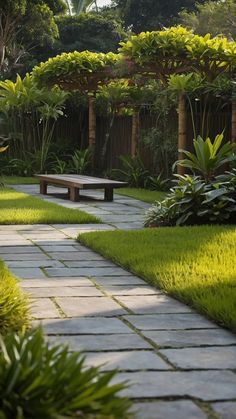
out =
<svg viewBox="0 0 236 419"><path fill-rule="evenodd" d="M146 227L236 223L236 188L232 174L227 175L232 181L215 178L211 183L199 176L175 176L175 186L166 199L147 211Z"/></svg>

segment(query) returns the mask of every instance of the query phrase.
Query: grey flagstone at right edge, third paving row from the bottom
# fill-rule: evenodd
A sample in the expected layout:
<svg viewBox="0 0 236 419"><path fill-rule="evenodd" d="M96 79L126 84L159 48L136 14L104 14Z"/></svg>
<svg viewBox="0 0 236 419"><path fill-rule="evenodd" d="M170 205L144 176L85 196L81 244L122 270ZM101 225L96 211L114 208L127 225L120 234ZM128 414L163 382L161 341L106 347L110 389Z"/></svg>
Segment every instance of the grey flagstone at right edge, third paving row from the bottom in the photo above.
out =
<svg viewBox="0 0 236 419"><path fill-rule="evenodd" d="M163 349L161 353L178 368L209 370L236 367L236 346Z"/></svg>

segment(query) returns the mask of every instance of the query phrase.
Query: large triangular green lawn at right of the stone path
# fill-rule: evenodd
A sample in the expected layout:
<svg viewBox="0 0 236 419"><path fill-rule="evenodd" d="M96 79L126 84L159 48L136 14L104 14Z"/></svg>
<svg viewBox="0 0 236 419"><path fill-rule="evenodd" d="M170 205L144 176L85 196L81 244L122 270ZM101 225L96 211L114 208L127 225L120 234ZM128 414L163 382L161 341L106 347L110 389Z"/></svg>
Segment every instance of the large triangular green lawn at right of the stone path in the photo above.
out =
<svg viewBox="0 0 236 419"><path fill-rule="evenodd" d="M235 227L111 231L79 240L236 331Z"/></svg>

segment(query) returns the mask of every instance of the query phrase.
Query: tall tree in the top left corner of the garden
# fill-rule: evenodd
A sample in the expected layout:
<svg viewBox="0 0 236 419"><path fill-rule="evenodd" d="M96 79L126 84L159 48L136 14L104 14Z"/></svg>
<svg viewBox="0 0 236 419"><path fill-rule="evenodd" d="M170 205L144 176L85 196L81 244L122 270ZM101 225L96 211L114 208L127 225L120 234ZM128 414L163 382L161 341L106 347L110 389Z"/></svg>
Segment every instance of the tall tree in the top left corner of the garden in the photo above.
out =
<svg viewBox="0 0 236 419"><path fill-rule="evenodd" d="M51 8L50 8L51 7ZM0 76L10 63L19 65L17 51L48 45L58 36L54 14L63 12L63 0L7 0L0 3ZM19 48L20 46L20 48Z"/></svg>

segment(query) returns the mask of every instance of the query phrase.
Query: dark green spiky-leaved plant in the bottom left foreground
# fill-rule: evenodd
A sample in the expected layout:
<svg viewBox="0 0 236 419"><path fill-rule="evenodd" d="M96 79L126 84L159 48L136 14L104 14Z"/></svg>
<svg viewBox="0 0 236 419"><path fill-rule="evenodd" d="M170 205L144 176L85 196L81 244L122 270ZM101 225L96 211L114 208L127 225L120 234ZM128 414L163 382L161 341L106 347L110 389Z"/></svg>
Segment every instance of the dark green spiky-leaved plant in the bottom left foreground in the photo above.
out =
<svg viewBox="0 0 236 419"><path fill-rule="evenodd" d="M41 329L8 335L0 345L1 418L128 417L130 403L117 395L124 384L110 384L115 372L85 368L80 353L50 346Z"/></svg>

